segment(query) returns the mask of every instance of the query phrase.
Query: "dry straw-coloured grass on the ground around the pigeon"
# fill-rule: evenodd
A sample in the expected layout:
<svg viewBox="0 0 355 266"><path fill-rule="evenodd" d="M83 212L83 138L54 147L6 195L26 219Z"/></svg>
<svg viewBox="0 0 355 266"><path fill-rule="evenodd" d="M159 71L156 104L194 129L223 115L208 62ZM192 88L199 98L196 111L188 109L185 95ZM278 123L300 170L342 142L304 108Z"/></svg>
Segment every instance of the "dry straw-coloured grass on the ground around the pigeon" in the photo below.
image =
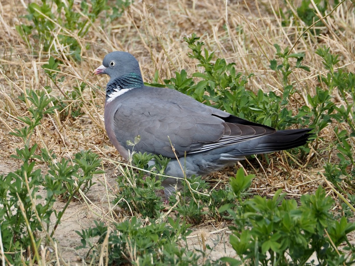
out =
<svg viewBox="0 0 355 266"><path fill-rule="evenodd" d="M79 2L75 6L77 9L80 7ZM291 24L282 27L278 10L294 11L297 1L293 4L286 1L285 4L284 1L277 0L231 0L226 4L222 0L183 0L177 3L147 0L136 1L125 10L122 17L111 24L104 23L104 28L99 21L95 22L85 38L78 38L75 32L68 32L67 34L77 38L82 44L82 62L68 60L68 49L55 41L53 49L60 51L59 59L63 62L58 77L64 77L64 81L58 83L60 87L56 87L41 68L50 55L36 46L32 39L30 44L33 48L29 48L15 29L20 23L28 23L23 18L27 4L27 1L15 0L0 2L1 172L13 171L20 164L11 159L10 155L15 154L21 140L9 135L9 132L23 126L17 117L27 115L30 103L23 104L17 99L18 95L26 94L26 89L43 90L44 86L50 86L53 89L51 95L62 96L62 92L71 92L81 82L87 83L83 99L68 100L71 103L68 108L82 103L84 115L80 118L62 117L56 111L53 117L45 117L44 123L38 126L32 142L37 142L39 149L45 147L53 150L58 155L57 160L61 157L70 158L83 149L92 149L103 159L103 168L107 174L106 177L100 177L100 180L105 188L105 203L101 205L102 202L95 200L82 203L92 220L125 219L124 214L115 217L111 212L112 206L108 205L108 199L116 189L112 177L117 173L115 169L118 164L113 160L121 160L104 129L104 88L108 79L105 76L92 77L92 71L101 64L108 52L131 52L140 62L144 81L151 82L155 71L158 71L160 82L163 82L165 78L174 77L175 71L185 69L191 75L199 70L197 62L187 56L189 49L183 41L183 37L196 33L209 51L215 51L218 57L226 58L228 62L235 62L237 70L245 75L255 74L248 83L250 90L272 90L281 94L282 79L270 70L269 61L274 58L274 43L279 44L282 49L290 46L295 53L305 52L304 64L311 68L310 73L302 70L292 73L291 79L295 81L295 87L302 92L294 99L294 113L297 112L297 102L308 105L305 95L315 93L315 87L320 85L317 76L326 73L321 57L315 54L317 48L323 45L330 47L332 54L340 56L338 65L355 72L355 15L351 1L345 1L331 16L322 18L327 31L315 36L310 32L304 33L307 28L305 25ZM102 19L106 20L104 17ZM60 27L58 25L58 29ZM84 44L89 44L89 49ZM93 94L97 97L93 98ZM339 95L333 96L335 104L341 105ZM286 158L289 155L286 153L273 157L268 167L257 161L250 164L251 167L248 162L242 162L249 173L255 173L258 177L252 185L255 193L272 195L282 188L289 196L298 198L302 194L312 193L319 184L329 188L318 172L323 171L324 162L338 160L336 151L329 148L329 143L335 139L335 126L347 128L346 124L334 123L320 132L317 145L311 150L307 167L301 162L289 165ZM297 161L297 158L293 159ZM228 174L230 172L225 171L215 177L226 179ZM111 182L107 182L109 179ZM220 228L223 226L220 225ZM64 255L63 257L66 259ZM64 264L63 261L61 263Z"/></svg>

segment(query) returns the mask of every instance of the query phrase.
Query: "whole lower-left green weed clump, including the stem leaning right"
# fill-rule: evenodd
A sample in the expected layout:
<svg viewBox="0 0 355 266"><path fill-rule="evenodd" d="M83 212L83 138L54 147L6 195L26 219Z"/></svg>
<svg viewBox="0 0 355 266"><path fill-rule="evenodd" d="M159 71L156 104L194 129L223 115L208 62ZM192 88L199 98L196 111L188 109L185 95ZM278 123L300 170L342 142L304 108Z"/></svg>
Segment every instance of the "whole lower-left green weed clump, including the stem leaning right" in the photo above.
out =
<svg viewBox="0 0 355 266"><path fill-rule="evenodd" d="M24 127L11 133L23 141L23 148L16 149L12 157L21 161L21 167L9 174L1 175L0 210L2 246L7 261L13 265L34 257L40 261L39 248L45 239L48 244L58 227L62 215L73 197L82 189L86 193L94 184L94 174L101 163L98 155L92 151L82 151L75 155L74 163L62 159L55 163L56 155L46 148L39 150L38 144L32 144L32 136L43 123L45 116L52 115L56 106L54 98L49 98L43 91L28 90L27 95L19 97L27 104L30 116L18 117ZM48 164L48 173L43 175L39 163ZM43 199L38 195L39 185L43 185L47 194ZM63 210L56 212L53 205L56 196L66 195L67 203ZM51 227L50 217L55 215L55 225ZM46 235L41 235L45 232Z"/></svg>

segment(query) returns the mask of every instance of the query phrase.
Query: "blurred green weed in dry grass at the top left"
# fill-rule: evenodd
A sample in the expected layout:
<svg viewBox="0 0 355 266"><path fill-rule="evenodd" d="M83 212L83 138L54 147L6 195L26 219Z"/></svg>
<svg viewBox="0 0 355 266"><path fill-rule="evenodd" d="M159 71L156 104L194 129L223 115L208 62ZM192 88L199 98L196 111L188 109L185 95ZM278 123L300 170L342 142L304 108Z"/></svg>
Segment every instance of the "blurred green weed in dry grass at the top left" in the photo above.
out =
<svg viewBox="0 0 355 266"><path fill-rule="evenodd" d="M42 0L39 4L32 2L28 5L28 14L25 16L31 23L17 25L16 29L30 48L43 45L45 52L60 54L64 51L67 58L81 61L83 44L77 37L86 36L103 11L114 20L130 4L131 1L116 0L112 8L106 0L93 0L90 3L81 1L80 6L74 0ZM30 40L35 42L30 43ZM54 44L57 41L63 51L57 50L57 45Z"/></svg>

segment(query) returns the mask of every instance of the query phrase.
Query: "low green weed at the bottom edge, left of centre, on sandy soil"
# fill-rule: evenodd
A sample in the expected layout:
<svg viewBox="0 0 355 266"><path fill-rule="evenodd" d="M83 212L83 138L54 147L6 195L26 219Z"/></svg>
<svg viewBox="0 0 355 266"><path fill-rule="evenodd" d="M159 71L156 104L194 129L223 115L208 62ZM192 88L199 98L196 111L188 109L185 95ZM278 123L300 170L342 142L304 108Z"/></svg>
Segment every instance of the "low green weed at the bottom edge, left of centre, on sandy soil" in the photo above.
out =
<svg viewBox="0 0 355 266"><path fill-rule="evenodd" d="M198 256L177 244L180 238L186 239L191 233L188 228L185 222L175 222L170 217L166 223L143 221L133 216L130 220L113 223L113 229L95 221L95 227L77 231L82 242L77 249L89 247L87 257L97 260L104 239L108 237L108 265L146 265L152 261L154 265L191 265L197 263ZM92 243L93 237L99 237L96 243Z"/></svg>

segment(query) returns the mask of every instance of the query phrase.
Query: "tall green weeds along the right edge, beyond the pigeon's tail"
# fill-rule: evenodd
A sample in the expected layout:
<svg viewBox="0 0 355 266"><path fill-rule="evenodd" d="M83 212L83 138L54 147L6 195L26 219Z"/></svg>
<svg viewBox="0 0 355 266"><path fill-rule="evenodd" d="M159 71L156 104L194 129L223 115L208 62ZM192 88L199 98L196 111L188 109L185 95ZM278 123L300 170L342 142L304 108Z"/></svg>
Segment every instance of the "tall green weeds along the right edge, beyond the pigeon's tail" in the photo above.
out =
<svg viewBox="0 0 355 266"><path fill-rule="evenodd" d="M345 68L335 69L335 65L339 62L339 56L332 55L329 50L329 48L323 47L318 48L316 51L316 54L322 57L324 68L328 71L326 75L318 77L319 81L324 85L322 87L327 89L317 87L317 94L314 97L308 96L308 101L313 107L310 112L314 114L313 123L318 121L319 130L332 121L339 125L345 122L349 128L342 129L338 125L334 127L336 139L332 145L338 150L339 163L331 164L327 162L324 166L324 174L337 189L350 195L355 191L355 150L353 141L355 136L355 75L346 71ZM333 103L331 95L334 94L334 91L339 93L343 101L342 105ZM306 108L303 108L303 110L306 110ZM301 115L303 113L300 113ZM310 116L308 115L308 117ZM340 184L346 185L341 186ZM354 204L354 201L352 203Z"/></svg>

